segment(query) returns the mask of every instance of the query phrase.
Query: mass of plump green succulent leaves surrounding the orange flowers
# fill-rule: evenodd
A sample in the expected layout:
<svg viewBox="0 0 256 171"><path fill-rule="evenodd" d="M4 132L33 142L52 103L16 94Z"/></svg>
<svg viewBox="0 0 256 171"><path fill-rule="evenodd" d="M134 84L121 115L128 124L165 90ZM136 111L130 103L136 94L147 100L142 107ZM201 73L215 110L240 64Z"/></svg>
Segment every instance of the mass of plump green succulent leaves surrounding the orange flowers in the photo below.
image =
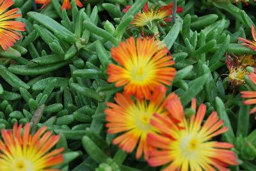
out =
<svg viewBox="0 0 256 171"><path fill-rule="evenodd" d="M125 38L140 35L140 29L127 28L146 2L90 0L78 9L72 1L71 10L61 11L60 2L51 0L36 12L33 1L16 0L26 32L14 47L0 52L7 59L0 63L0 128L33 122L60 134L58 147L65 147L65 161L58 167L62 170L158 170L111 145L114 136L104 128L105 103L121 91L106 81L109 51ZM149 2L162 6L171 1ZM122 11L133 3L127 13ZM239 157L240 165L231 169L256 170L255 121L239 94L256 87L248 78L244 85L230 86L223 62L226 52L256 54L237 43L239 36L250 37L256 3L177 3L184 11L175 24L158 24L177 69L169 91L179 94L184 106L196 97L207 105L207 114L217 110L229 128L218 138L234 144Z"/></svg>

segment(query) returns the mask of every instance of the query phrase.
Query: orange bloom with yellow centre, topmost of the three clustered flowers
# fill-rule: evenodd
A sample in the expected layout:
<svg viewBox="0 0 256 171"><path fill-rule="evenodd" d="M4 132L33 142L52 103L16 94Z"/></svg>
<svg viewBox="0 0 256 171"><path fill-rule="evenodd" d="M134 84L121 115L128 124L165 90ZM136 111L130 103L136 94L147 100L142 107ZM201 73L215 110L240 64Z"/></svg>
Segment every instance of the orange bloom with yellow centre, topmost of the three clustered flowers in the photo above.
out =
<svg viewBox="0 0 256 171"><path fill-rule="evenodd" d="M159 49L154 40L133 37L111 49L113 59L119 64L109 64L108 82L116 87L124 85L124 92L137 98L147 98L159 85L171 85L176 70L166 47Z"/></svg>

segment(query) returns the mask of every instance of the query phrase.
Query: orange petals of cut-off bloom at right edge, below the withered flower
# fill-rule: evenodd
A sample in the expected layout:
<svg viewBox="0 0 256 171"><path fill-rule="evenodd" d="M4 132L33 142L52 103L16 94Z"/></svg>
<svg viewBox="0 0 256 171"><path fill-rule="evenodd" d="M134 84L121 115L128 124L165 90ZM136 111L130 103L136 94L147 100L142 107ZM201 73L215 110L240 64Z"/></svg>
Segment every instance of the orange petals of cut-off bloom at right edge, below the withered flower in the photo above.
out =
<svg viewBox="0 0 256 171"><path fill-rule="evenodd" d="M254 69L254 72L256 72L256 69ZM250 80L252 80L253 84L256 85L256 74L249 73L248 77L250 78ZM242 98L250 98L243 102L244 105L255 105L256 104L256 91L242 91L241 94L242 94ZM256 112L256 107L254 107L252 110L250 110L250 114L253 114L255 112Z"/></svg>

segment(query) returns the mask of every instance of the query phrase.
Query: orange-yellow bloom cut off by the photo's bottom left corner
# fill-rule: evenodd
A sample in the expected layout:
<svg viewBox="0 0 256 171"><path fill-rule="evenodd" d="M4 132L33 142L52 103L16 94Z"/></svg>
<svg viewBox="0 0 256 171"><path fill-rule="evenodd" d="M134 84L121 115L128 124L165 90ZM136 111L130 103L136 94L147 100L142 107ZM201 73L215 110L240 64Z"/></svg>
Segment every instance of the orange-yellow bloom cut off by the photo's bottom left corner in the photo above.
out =
<svg viewBox="0 0 256 171"><path fill-rule="evenodd" d="M35 135L29 133L29 123L24 126L16 123L13 130L2 130L0 140L0 170L57 170L51 168L63 162L63 148L50 149L58 142L60 136L45 133L46 127L40 128Z"/></svg>

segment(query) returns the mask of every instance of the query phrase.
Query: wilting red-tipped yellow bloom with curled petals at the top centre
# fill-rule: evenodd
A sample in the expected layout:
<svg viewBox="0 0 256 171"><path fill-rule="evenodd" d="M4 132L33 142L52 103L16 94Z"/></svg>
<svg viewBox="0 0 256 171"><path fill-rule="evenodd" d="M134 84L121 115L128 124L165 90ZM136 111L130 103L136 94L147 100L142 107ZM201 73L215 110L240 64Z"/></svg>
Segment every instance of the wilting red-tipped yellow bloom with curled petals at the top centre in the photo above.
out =
<svg viewBox="0 0 256 171"><path fill-rule="evenodd" d="M126 13L131 6L126 6L124 9L124 12ZM143 7L142 12L137 13L137 15L134 17L134 20L131 22L132 25L136 27L143 27L154 20L164 20L166 22L172 21L172 18L170 15L172 15L173 10L173 3L165 6L153 7L149 10L148 3L145 4ZM177 6L177 13L182 12L182 8L180 6Z"/></svg>

